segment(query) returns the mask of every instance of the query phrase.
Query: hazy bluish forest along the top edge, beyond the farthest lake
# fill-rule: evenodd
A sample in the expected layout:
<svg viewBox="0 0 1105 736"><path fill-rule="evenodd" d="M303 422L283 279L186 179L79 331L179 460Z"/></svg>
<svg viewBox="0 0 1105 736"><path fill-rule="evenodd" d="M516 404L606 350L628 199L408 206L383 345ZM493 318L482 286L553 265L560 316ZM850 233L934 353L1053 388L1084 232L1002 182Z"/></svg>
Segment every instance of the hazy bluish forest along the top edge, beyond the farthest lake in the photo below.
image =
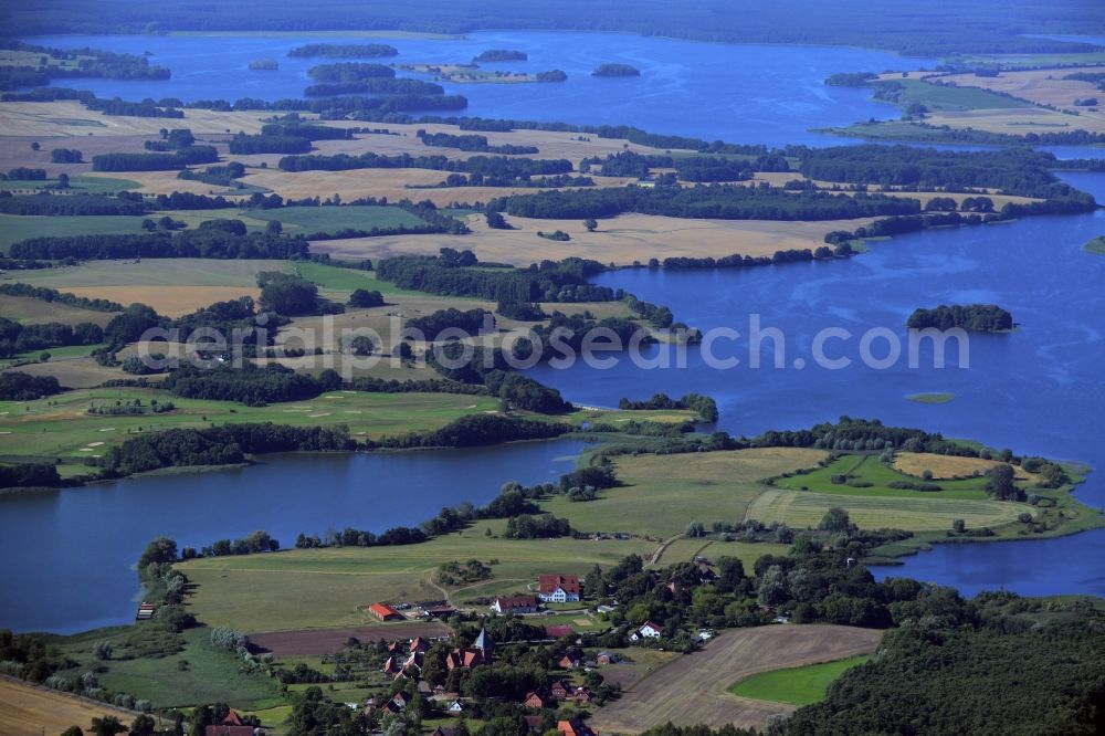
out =
<svg viewBox="0 0 1105 736"><path fill-rule="evenodd" d="M906 55L954 53L1051 53L1090 51L1092 43L1027 35L1081 34L1101 27L1105 10L1094 0L1062 4L1024 0L932 0L924 6L841 0L761 3L732 13L727 0L676 6L642 0L625 12L618 0L565 0L519 6L507 0L424 0L407 6L366 7L355 0L303 0L274 6L262 0L196 6L187 0L149 3L119 0L110 7L54 0L48 8L11 9L8 32L140 33L164 31L378 31L466 33L481 29L615 31L696 41L821 43L866 46Z"/></svg>

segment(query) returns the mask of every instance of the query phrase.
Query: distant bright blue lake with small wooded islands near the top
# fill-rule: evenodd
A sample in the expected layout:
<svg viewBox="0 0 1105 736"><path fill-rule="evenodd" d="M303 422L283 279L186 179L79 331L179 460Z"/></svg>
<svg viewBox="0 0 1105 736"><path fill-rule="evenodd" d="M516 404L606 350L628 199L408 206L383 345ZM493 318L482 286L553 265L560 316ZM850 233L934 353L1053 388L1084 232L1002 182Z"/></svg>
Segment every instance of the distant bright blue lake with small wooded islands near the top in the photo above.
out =
<svg viewBox="0 0 1105 736"><path fill-rule="evenodd" d="M312 84L307 70L334 60L291 59L288 50L311 42L358 42L317 35L60 35L29 40L66 49L148 51L150 63L172 70L171 80L57 80L55 84L91 90L101 97L177 97L186 102L302 97L304 87ZM839 144L844 139L808 130L898 116L896 107L871 99L869 90L827 87L822 82L830 74L938 63L866 49L730 45L614 33L481 32L455 40L368 41L390 43L399 50L398 56L375 60L383 63L469 62L488 49L516 49L525 51L528 61L482 66L522 72L559 69L568 74L568 81L559 84L445 83L448 93L469 98L466 111L448 114L632 124L655 133L775 146ZM249 63L255 59L275 59L280 70L252 72ZM591 71L606 62L632 64L641 70L641 76L592 77Z"/></svg>

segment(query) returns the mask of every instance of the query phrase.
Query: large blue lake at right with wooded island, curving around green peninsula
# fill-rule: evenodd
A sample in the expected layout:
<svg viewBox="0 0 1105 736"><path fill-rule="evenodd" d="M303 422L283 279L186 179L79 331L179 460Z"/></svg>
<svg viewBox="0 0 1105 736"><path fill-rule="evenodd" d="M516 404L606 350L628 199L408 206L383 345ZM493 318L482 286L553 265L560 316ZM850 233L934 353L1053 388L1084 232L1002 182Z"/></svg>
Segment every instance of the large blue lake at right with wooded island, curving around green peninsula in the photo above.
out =
<svg viewBox="0 0 1105 736"><path fill-rule="evenodd" d="M1105 201L1105 175L1064 178ZM843 263L610 272L597 283L666 304L676 319L703 330L740 332L744 337L718 344L713 354L741 364L730 370L711 368L702 351L692 349L682 370L642 370L622 361L611 370L545 366L530 375L570 400L596 406L617 406L622 396L704 391L717 400L719 429L734 434L804 428L849 414L1103 469L1105 256L1082 251L1102 233L1105 210L901 235L872 243L869 253ZM954 349L944 369L932 367L930 350L919 354L920 369L908 368L904 357L885 370L862 364L857 343L867 330L887 328L905 346L905 320L916 307L978 302L1007 307L1020 328L1009 335L971 335L969 368L951 367L957 365ZM750 314L760 315L762 328L776 327L785 336L782 369L774 368L770 340L761 344L764 367L749 367ZM827 327L854 335L827 349L830 357L851 359L848 368L822 369L811 359L813 336ZM881 358L887 348L877 345L872 351ZM646 357L667 349L653 347ZM807 367L796 368L794 360ZM955 399L926 404L905 398L919 392L951 392ZM1092 473L1077 493L1091 505L1105 506L1105 477ZM1032 547L938 547L880 574L916 575L965 592L1004 587L1024 593L1105 595L1105 557L1087 554L1105 545L1105 529L1025 544ZM975 564L961 566L976 550ZM1022 575L1025 557L1033 576Z"/></svg>

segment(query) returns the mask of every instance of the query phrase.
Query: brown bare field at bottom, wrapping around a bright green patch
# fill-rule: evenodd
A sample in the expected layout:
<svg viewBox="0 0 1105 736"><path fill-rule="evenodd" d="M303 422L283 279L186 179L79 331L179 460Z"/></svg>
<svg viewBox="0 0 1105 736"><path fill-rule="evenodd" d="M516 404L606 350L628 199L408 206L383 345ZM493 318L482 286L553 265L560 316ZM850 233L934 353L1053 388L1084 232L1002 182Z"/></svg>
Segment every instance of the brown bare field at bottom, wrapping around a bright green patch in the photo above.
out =
<svg viewBox="0 0 1105 736"><path fill-rule="evenodd" d="M794 708L728 692L733 683L769 670L873 652L883 632L838 625L775 625L727 631L703 651L681 656L630 685L589 722L601 733L638 734L669 721L677 726L726 724L762 728Z"/></svg>

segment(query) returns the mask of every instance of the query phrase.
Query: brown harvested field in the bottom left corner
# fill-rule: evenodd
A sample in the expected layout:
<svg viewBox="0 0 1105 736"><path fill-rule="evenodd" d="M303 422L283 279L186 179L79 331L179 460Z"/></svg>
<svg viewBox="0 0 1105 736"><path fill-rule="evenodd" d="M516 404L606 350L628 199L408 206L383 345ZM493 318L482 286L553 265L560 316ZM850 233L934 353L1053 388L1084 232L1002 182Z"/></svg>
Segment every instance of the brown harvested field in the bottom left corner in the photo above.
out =
<svg viewBox="0 0 1105 736"><path fill-rule="evenodd" d="M135 714L13 680L0 680L0 733L4 736L56 736L70 726L92 733L92 719L103 716L130 723Z"/></svg>

